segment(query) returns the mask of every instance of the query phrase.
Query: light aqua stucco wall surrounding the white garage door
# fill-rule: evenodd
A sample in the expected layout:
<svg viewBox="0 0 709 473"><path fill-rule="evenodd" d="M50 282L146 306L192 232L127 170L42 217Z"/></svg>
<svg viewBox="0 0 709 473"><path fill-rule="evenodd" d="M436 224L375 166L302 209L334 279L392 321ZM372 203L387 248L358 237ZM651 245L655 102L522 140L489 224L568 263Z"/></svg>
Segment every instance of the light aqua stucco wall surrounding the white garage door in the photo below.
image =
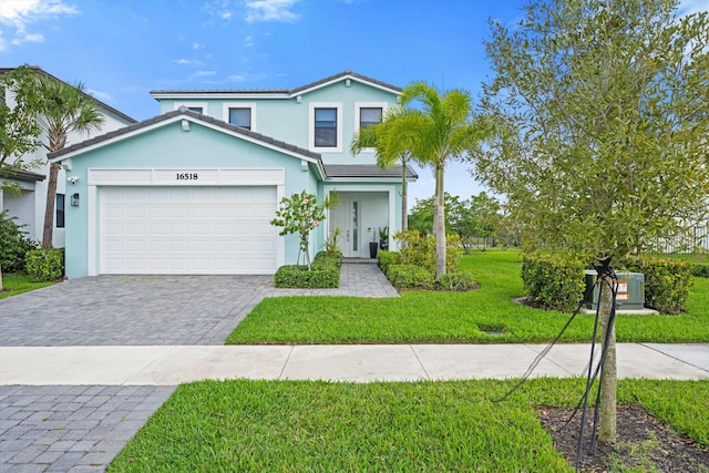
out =
<svg viewBox="0 0 709 473"><path fill-rule="evenodd" d="M165 124L156 130L145 131L137 136L113 144L86 151L71 156L72 176L79 182L68 186L68 202L71 194L80 195L80 206L65 209L66 218L66 276L83 277L91 273L86 248L89 238L88 200L89 169L122 168L282 168L286 174L286 196L307 189L318 191L316 168L301 168L301 160L280 153L258 144L246 142L239 137L210 130L197 123L191 123L191 131L184 132L181 122ZM95 233L99 235L100 192L95 193ZM274 210L275 212L275 210ZM319 235L318 235L319 233ZM314 247L321 245L322 229L314 235ZM96 245L95 260L99 261L100 248ZM286 264L295 264L298 253L298 240L295 236L286 237Z"/></svg>

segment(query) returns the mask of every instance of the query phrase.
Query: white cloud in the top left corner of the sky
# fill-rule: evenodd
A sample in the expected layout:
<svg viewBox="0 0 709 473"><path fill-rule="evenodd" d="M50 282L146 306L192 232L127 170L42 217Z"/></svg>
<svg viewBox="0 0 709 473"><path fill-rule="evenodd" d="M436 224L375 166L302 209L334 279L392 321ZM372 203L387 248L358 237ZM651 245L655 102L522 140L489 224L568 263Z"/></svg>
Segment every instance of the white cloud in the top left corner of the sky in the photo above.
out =
<svg viewBox="0 0 709 473"><path fill-rule="evenodd" d="M23 43L44 42L44 35L38 32L28 32L28 25L59 16L78 14L75 7L65 4L63 0L1 0L0 24L13 30L10 41L13 45ZM7 45L7 40L0 39L0 51Z"/></svg>

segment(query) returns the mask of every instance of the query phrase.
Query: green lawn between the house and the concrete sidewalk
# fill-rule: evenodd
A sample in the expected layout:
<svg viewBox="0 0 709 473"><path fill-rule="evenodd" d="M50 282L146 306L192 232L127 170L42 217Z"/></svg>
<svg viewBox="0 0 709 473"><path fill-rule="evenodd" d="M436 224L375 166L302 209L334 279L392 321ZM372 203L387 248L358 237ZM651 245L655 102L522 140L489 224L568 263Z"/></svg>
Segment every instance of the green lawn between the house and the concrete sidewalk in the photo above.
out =
<svg viewBox="0 0 709 473"><path fill-rule="evenodd" d="M520 343L554 339L569 315L533 309L523 295L521 256L487 251L461 266L481 285L472 292L408 291L400 298L285 297L263 300L229 335L229 345L253 343ZM709 341L709 279L695 278L688 312L618 316L618 341ZM578 316L563 341L589 341L593 316ZM501 329L502 335L486 330Z"/></svg>

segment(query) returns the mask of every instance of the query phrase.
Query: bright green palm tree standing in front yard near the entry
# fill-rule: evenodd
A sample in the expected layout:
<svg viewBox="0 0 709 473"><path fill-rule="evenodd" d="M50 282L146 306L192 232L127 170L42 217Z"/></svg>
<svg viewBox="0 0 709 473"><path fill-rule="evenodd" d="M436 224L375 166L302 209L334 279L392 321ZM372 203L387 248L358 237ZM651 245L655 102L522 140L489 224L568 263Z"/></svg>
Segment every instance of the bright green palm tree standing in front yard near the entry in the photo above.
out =
<svg viewBox="0 0 709 473"><path fill-rule="evenodd" d="M461 158L482 133L471 120L467 91L453 89L441 94L425 82L414 82L401 93L400 107L388 113L373 131L364 130L356 140L374 145L380 165L392 165L404 156L431 166L435 173L433 234L435 277L445 274L445 215L443 172L449 158ZM418 105L413 107L412 105ZM364 147L364 146L361 146ZM353 151L357 147L352 146Z"/></svg>

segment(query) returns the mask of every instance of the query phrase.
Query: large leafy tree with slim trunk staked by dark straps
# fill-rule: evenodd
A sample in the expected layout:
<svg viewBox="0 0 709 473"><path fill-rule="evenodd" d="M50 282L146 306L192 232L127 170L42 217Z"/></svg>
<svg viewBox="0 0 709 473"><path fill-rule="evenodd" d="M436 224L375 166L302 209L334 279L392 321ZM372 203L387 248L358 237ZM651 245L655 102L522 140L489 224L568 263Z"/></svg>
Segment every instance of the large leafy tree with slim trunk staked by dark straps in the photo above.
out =
<svg viewBox="0 0 709 473"><path fill-rule="evenodd" d="M599 268L602 441L616 438L610 270L688 235L709 198L707 44L707 13L680 19L676 0L535 0L516 29L493 22L486 43L482 109L499 135L480 175L506 195L528 247Z"/></svg>

